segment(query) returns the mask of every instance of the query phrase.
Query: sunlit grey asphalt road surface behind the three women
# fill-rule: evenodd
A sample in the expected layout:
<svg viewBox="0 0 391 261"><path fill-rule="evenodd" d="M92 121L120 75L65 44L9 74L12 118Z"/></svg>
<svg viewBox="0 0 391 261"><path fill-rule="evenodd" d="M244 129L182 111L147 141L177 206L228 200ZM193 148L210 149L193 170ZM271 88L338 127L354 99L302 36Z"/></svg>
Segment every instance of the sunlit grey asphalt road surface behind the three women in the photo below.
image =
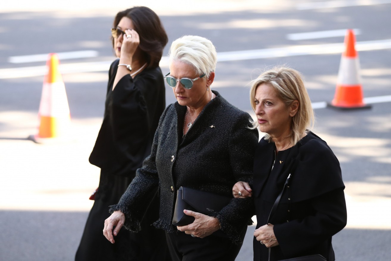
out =
<svg viewBox="0 0 391 261"><path fill-rule="evenodd" d="M391 1L133 1L161 17L169 44L184 34L213 41L215 82L251 113L249 81L264 68L302 72L314 104L314 132L340 160L348 225L333 237L337 260L390 260ZM77 8L76 8L77 7ZM0 8L0 260L73 260L97 187L88 163L102 121L109 41L122 3L70 0L2 3ZM366 110L326 108L335 85L344 32L355 29ZM165 48L167 54L169 45ZM72 116L66 142L35 144L47 54L60 56ZM162 59L163 73L169 71ZM166 87L166 103L175 101ZM252 260L254 227L237 260Z"/></svg>

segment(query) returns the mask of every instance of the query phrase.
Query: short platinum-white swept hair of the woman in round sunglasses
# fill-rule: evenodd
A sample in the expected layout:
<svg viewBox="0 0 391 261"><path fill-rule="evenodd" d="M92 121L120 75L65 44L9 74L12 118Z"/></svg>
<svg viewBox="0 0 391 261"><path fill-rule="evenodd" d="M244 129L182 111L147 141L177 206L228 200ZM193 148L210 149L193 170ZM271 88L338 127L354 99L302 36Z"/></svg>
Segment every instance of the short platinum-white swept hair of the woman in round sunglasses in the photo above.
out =
<svg viewBox="0 0 391 261"><path fill-rule="evenodd" d="M185 35L173 41L169 50L169 61L181 61L194 67L197 74L209 77L217 63L216 48L201 36Z"/></svg>

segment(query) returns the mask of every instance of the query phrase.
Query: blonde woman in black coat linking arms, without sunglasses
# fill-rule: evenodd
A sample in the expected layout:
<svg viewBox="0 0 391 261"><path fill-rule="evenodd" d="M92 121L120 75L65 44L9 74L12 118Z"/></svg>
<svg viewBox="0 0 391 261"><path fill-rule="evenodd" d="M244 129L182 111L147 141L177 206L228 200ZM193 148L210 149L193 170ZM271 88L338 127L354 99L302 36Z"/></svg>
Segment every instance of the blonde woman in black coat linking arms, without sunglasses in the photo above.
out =
<svg viewBox="0 0 391 261"><path fill-rule="evenodd" d="M250 102L253 128L266 135L255 152L252 186L238 182L233 194L254 199L254 260L315 255L308 260L334 261L331 238L346 225L344 184L332 150L307 130L314 114L300 73L265 71L252 83Z"/></svg>

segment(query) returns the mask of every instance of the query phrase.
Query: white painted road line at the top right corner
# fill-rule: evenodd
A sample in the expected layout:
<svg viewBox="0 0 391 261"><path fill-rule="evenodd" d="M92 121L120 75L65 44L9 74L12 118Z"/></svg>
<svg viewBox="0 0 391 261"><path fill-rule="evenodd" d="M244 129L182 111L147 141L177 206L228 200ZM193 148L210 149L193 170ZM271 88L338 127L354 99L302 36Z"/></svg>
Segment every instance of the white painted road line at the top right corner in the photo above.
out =
<svg viewBox="0 0 391 261"><path fill-rule="evenodd" d="M322 2L307 2L296 5L298 10L310 10L310 9L324 9L324 8L337 8L359 5L380 5L390 4L391 0L335 0L335 1L322 1Z"/></svg>

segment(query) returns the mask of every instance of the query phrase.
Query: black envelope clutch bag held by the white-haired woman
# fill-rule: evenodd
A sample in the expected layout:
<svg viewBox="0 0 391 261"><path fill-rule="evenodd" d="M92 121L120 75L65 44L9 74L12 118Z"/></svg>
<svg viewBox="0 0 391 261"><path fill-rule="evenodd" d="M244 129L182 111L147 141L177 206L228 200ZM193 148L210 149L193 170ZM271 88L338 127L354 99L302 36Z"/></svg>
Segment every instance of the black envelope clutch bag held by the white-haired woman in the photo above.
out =
<svg viewBox="0 0 391 261"><path fill-rule="evenodd" d="M230 203L231 199L231 197L219 194L180 187L176 195L172 225L185 226L193 223L194 217L183 213L184 209L208 215L212 212L221 211L223 207Z"/></svg>

